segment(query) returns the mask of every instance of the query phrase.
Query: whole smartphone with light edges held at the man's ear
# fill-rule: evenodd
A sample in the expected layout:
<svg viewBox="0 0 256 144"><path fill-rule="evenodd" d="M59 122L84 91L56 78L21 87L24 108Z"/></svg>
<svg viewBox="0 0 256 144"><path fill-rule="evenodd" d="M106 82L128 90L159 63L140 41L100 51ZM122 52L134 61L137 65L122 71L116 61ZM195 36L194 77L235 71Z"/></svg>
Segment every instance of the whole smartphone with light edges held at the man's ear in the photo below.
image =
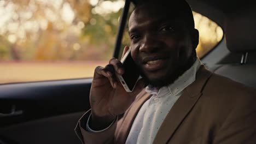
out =
<svg viewBox="0 0 256 144"><path fill-rule="evenodd" d="M129 49L121 59L124 65L124 74L117 75L126 92L132 92L137 81L141 78L139 69L131 57L131 49Z"/></svg>

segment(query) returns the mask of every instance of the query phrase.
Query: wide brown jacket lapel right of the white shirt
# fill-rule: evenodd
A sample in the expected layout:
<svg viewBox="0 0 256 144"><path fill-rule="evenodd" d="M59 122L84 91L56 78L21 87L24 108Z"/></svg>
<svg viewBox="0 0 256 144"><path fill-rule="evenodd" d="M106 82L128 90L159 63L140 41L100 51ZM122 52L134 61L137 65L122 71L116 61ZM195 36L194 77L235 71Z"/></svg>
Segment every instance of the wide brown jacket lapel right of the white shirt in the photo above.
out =
<svg viewBox="0 0 256 144"><path fill-rule="evenodd" d="M203 65L200 67L196 74L196 80L184 89L182 96L173 105L161 124L153 143L167 143L171 139L174 131L200 98L201 91L211 74Z"/></svg>

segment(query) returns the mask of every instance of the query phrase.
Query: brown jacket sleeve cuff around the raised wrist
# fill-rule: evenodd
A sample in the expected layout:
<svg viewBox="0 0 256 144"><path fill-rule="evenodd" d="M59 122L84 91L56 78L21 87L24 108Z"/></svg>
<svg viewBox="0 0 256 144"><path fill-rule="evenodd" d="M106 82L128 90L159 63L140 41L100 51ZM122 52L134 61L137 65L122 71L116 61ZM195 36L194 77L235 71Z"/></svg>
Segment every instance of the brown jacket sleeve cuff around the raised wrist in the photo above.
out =
<svg viewBox="0 0 256 144"><path fill-rule="evenodd" d="M86 122L90 116L91 110L85 112L85 114L79 119L77 126L75 127L75 133L82 141L82 143L113 143L115 128L117 127L117 119L110 125L109 128L100 132L89 132L85 130Z"/></svg>

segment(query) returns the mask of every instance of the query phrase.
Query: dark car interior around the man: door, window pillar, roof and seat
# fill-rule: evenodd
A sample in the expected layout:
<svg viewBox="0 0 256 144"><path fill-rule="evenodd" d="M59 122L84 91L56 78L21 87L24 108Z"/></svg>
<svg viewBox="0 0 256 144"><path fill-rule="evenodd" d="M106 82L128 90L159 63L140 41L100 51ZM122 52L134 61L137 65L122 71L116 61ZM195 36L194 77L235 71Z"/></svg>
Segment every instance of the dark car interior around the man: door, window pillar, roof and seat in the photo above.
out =
<svg viewBox="0 0 256 144"><path fill-rule="evenodd" d="M121 52L121 39L130 3L136 5L138 1L140 0L126 0L113 57L118 57ZM202 63L216 74L255 88L256 5L254 2L250 0L187 0L187 2L194 11L209 17L224 31L224 38L201 58ZM91 81L92 78L1 84L0 143L80 143L74 128L83 113L90 109Z"/></svg>

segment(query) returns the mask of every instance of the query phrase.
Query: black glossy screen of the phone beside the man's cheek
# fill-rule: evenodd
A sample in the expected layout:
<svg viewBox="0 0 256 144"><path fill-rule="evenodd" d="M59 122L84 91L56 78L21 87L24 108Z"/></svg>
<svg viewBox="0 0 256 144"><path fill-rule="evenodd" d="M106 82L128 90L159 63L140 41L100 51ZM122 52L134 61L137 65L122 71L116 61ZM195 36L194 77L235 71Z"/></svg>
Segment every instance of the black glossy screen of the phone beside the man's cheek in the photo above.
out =
<svg viewBox="0 0 256 144"><path fill-rule="evenodd" d="M135 62L131 57L131 52L129 52L127 58L123 62L123 65L125 72L122 76L126 82L126 85L132 91L140 74L138 67L136 66Z"/></svg>

